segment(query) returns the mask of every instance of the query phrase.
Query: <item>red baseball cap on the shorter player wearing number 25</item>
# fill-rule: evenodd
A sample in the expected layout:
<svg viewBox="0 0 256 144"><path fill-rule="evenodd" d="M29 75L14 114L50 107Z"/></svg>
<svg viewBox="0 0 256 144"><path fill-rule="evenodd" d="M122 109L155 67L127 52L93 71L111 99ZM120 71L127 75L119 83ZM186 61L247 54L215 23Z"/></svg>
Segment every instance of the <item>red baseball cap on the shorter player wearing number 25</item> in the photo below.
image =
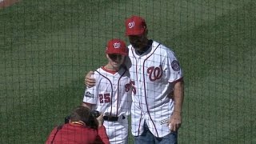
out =
<svg viewBox="0 0 256 144"><path fill-rule="evenodd" d="M118 38L111 39L107 43L106 54L128 55L126 42L123 42L121 39L118 39Z"/></svg>

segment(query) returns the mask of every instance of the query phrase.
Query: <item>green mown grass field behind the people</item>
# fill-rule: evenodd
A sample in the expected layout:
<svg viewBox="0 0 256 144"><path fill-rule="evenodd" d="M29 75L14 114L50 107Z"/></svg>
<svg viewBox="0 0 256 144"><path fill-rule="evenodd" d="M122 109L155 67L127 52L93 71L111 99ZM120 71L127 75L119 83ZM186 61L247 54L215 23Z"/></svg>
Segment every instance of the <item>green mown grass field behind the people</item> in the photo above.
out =
<svg viewBox="0 0 256 144"><path fill-rule="evenodd" d="M256 1L22 0L0 9L0 143L43 143L81 105L125 18L175 51L185 79L178 142L256 143ZM130 143L133 138L130 137Z"/></svg>

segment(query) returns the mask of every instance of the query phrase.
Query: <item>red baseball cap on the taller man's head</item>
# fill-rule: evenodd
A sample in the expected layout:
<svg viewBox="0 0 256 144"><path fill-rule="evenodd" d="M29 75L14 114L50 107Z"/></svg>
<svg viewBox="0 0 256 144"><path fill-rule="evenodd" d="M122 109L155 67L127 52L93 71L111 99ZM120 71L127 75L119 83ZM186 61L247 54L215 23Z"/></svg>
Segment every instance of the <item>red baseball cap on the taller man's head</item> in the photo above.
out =
<svg viewBox="0 0 256 144"><path fill-rule="evenodd" d="M146 30L146 22L143 18L133 15L126 19L126 35L141 35Z"/></svg>

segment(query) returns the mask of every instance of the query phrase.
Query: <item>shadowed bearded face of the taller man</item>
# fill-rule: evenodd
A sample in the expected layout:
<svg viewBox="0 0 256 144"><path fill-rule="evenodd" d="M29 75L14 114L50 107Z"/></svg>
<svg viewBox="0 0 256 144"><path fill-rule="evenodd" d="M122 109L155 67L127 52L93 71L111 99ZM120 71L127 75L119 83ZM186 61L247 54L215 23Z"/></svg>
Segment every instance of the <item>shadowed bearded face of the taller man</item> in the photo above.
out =
<svg viewBox="0 0 256 144"><path fill-rule="evenodd" d="M131 46L133 46L135 50L142 50L143 47L146 46L144 34L129 35L128 38L129 38Z"/></svg>

